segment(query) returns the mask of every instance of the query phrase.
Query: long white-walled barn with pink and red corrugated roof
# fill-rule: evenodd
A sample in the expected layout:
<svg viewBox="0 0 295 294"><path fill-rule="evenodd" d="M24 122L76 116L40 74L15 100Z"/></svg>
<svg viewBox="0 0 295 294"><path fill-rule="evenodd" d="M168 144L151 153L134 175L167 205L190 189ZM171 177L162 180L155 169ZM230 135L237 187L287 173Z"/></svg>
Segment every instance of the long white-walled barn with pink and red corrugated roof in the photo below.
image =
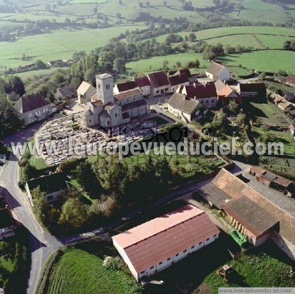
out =
<svg viewBox="0 0 295 294"><path fill-rule="evenodd" d="M219 233L203 210L187 205L112 239L120 256L139 281L210 244Z"/></svg>

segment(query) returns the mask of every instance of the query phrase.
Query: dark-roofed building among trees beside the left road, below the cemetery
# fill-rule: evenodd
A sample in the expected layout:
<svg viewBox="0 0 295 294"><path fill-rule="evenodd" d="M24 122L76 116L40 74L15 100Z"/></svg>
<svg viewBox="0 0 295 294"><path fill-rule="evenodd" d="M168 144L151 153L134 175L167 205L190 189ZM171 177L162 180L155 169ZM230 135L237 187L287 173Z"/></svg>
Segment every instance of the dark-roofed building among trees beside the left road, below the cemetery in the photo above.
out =
<svg viewBox="0 0 295 294"><path fill-rule="evenodd" d="M57 201L59 196L68 188L65 175L62 172L28 180L25 189L31 204L33 204L31 192L38 186L40 190L45 193L45 200L47 203Z"/></svg>

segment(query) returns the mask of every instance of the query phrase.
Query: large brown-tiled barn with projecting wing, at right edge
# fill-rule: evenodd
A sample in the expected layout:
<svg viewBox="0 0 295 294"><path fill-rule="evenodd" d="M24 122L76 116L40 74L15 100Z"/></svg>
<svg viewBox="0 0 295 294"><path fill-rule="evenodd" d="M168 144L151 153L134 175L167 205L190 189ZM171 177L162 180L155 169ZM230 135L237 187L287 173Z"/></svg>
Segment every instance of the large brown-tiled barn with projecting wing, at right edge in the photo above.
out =
<svg viewBox="0 0 295 294"><path fill-rule="evenodd" d="M257 169L262 174L264 170ZM247 183L222 169L199 194L218 207L228 222L255 246L272 239L295 260L295 204L249 179Z"/></svg>

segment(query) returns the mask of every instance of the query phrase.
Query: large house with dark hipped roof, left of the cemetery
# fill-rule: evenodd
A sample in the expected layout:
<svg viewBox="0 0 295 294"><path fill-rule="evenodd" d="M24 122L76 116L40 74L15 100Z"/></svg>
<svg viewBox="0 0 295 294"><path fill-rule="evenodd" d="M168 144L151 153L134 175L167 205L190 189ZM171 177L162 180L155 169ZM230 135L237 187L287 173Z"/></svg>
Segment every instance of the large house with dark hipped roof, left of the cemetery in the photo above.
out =
<svg viewBox="0 0 295 294"><path fill-rule="evenodd" d="M41 94L21 97L14 105L15 114L24 120L24 125L48 118L52 114L51 103Z"/></svg>

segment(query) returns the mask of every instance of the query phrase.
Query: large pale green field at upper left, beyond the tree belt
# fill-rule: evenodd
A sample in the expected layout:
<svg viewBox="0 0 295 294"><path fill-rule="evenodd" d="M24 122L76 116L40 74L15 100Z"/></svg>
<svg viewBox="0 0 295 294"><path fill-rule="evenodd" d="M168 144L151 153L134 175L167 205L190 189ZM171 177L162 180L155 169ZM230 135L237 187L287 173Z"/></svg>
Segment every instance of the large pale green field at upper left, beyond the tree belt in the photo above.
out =
<svg viewBox="0 0 295 294"><path fill-rule="evenodd" d="M145 26L137 26L143 29ZM118 36L135 26L118 26L108 29L57 30L51 33L20 37L16 42L0 42L0 65L17 67L32 63L36 59L44 62L71 58L75 51L89 52L105 45L110 38ZM20 60L22 53L30 60Z"/></svg>

